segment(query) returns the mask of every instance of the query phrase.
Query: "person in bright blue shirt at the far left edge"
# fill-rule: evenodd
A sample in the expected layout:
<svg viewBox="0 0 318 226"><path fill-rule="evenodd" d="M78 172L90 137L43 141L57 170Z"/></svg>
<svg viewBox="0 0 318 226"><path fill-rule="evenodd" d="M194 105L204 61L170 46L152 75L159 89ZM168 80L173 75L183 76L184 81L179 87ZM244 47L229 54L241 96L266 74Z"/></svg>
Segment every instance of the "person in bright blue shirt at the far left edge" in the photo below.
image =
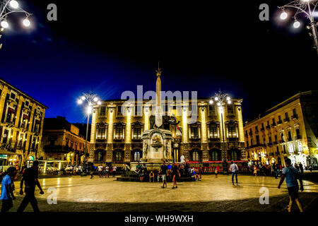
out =
<svg viewBox="0 0 318 226"><path fill-rule="evenodd" d="M8 212L13 207L13 200L16 197L13 194L14 184L13 178L16 177L16 168L8 167L6 170L7 174L3 177L1 182L1 196L0 200L2 200L1 212Z"/></svg>

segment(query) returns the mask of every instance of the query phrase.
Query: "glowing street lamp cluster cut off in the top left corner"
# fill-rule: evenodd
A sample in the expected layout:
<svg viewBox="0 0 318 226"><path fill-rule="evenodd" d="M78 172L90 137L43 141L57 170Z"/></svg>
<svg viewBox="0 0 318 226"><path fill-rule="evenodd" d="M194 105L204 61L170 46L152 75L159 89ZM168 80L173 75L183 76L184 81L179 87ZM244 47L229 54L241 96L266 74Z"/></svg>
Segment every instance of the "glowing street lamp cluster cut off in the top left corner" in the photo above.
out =
<svg viewBox="0 0 318 226"><path fill-rule="evenodd" d="M16 0L0 0L0 32L2 32L4 29L9 28L9 23L6 20L9 14L11 13L24 13L25 19L22 21L23 25L25 27L30 26L30 20L28 19L29 16L31 16L31 13L28 13L23 8L19 7L19 3ZM1 38L1 34L0 34ZM2 44L0 44L0 49L2 47Z"/></svg>

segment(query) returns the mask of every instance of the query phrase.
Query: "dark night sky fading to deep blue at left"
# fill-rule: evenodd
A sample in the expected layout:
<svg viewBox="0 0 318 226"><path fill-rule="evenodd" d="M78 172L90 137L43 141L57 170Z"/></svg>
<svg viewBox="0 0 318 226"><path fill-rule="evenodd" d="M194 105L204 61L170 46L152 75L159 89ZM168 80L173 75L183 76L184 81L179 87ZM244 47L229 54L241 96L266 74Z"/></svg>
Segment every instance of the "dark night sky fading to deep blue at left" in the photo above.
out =
<svg viewBox="0 0 318 226"><path fill-rule="evenodd" d="M151 3L150 3L151 2ZM124 90L219 89L243 98L243 118L254 119L299 91L317 89L317 53L305 29L279 21L288 1L26 1L33 28L11 29L0 42L0 77L47 105L46 117L85 122L76 98L92 90L103 100ZM213 4L210 4L213 2ZM58 20L47 20L47 4ZM259 4L271 7L259 20ZM306 24L307 25L307 24Z"/></svg>

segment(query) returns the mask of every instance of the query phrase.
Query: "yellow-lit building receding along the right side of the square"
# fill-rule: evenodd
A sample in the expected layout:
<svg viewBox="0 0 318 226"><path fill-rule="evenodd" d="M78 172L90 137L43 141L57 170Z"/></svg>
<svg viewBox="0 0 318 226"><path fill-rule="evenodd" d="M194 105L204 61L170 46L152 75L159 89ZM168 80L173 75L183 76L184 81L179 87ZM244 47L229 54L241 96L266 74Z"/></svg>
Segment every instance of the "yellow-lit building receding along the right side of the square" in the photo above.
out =
<svg viewBox="0 0 318 226"><path fill-rule="evenodd" d="M262 164L317 166L317 91L298 93L245 124L247 158Z"/></svg>

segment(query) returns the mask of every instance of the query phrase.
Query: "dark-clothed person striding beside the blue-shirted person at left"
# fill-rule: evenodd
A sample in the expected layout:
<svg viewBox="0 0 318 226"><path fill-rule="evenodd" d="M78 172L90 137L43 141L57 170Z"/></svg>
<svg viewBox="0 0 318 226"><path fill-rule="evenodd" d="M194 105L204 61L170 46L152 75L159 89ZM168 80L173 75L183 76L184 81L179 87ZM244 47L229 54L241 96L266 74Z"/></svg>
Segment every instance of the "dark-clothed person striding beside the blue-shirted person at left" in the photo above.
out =
<svg viewBox="0 0 318 226"><path fill-rule="evenodd" d="M20 204L17 212L23 212L25 207L28 206L28 203L31 203L34 212L40 212L39 207L37 206L37 199L35 198L35 186L40 189L40 194L44 194L42 187L39 182L39 161L35 160L33 166L25 169L23 172L23 177L20 182L20 195L23 195L23 182L25 184L25 196L22 203Z"/></svg>

